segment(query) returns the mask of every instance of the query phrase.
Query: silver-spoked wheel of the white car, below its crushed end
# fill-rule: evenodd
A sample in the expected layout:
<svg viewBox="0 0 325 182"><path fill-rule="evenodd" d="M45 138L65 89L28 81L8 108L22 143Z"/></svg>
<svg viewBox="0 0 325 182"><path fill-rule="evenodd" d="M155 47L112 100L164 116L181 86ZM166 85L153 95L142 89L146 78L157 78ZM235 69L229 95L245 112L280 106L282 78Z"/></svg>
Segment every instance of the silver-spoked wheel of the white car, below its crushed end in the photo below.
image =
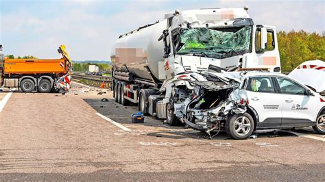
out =
<svg viewBox="0 0 325 182"><path fill-rule="evenodd" d="M234 139L246 139L252 135L253 131L254 120L248 113L234 114L226 121L226 132Z"/></svg>

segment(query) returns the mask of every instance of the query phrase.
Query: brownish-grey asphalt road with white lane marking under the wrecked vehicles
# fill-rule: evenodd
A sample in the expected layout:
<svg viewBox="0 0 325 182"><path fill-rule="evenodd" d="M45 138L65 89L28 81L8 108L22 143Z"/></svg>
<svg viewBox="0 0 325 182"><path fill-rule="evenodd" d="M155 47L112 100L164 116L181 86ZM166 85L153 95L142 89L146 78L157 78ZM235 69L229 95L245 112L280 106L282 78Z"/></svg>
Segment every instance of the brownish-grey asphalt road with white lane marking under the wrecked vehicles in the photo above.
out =
<svg viewBox="0 0 325 182"><path fill-rule="evenodd" d="M232 140L163 125L112 93L14 93L0 112L0 181L324 181L324 135L258 133ZM108 102L101 99L108 98Z"/></svg>

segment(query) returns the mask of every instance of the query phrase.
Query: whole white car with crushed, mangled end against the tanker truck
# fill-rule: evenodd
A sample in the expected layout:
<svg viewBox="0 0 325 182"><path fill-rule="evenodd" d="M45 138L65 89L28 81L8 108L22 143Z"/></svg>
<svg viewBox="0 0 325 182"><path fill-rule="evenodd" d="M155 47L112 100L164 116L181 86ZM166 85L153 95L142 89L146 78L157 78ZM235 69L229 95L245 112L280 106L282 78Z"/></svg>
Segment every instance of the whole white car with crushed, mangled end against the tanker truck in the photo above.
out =
<svg viewBox="0 0 325 182"><path fill-rule="evenodd" d="M325 134L325 98L279 73L215 72L177 75L167 122L180 120L210 135L234 139L256 129L313 127Z"/></svg>

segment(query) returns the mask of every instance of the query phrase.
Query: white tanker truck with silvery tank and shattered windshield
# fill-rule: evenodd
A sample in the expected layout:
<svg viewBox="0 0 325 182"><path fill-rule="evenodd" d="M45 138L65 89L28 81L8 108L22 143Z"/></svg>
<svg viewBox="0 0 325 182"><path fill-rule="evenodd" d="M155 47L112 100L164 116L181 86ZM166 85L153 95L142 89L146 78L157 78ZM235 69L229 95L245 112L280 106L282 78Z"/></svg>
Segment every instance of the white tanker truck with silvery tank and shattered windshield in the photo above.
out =
<svg viewBox="0 0 325 182"><path fill-rule="evenodd" d="M176 115L186 116L182 111L188 98L197 93L189 79L205 80L210 77L202 74L206 70L280 72L276 29L255 25L247 6L165 14L163 21L119 36L111 60L115 101L136 103L143 114L166 119L169 125L182 121ZM234 88L230 82L228 89ZM210 102L210 107L218 103Z"/></svg>

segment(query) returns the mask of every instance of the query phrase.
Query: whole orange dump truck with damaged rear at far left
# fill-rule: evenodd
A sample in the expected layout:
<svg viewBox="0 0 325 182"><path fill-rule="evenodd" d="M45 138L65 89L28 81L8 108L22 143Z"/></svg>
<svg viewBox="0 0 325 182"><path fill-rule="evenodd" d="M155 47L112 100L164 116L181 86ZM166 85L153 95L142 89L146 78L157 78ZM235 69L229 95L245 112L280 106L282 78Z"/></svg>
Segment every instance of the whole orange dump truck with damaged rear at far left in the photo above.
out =
<svg viewBox="0 0 325 182"><path fill-rule="evenodd" d="M72 62L61 45L58 52L62 58L3 59L1 83L5 88L20 88L23 92L67 92L71 86Z"/></svg>

